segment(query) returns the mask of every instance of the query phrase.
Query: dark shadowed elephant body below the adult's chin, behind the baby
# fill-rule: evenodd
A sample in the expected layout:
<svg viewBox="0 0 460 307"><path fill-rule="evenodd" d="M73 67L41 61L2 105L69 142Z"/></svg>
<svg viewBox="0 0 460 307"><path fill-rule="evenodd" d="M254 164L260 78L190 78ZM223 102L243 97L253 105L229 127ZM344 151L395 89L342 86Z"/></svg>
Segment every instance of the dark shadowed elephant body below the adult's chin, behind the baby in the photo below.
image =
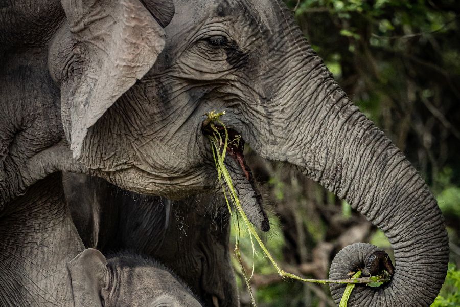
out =
<svg viewBox="0 0 460 307"><path fill-rule="evenodd" d="M72 173L64 173L63 184L86 248L153 257L174 270L205 306L238 306L228 211L215 196L170 201Z"/></svg>

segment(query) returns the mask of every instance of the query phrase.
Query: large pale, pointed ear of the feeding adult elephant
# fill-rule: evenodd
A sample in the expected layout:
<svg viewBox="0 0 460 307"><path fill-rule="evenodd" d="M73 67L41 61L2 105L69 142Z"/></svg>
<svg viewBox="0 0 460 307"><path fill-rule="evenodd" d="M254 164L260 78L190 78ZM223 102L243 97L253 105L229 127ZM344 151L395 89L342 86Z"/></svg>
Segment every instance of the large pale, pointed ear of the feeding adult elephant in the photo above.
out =
<svg viewBox="0 0 460 307"><path fill-rule="evenodd" d="M61 112L76 159L87 130L152 68L165 47L157 20L169 23L172 1L145 2L149 9L139 0L62 0L73 54L61 84Z"/></svg>

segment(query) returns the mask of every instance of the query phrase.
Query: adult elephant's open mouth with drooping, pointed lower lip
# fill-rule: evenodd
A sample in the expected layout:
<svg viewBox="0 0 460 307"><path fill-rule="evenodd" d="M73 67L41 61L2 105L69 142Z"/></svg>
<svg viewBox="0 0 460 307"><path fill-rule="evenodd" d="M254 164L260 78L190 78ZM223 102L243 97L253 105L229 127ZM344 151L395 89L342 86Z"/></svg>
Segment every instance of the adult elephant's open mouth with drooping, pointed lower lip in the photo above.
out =
<svg viewBox="0 0 460 307"><path fill-rule="evenodd" d="M221 148L224 148L225 128L215 125L219 133L219 141ZM244 140L238 131L232 128L226 128L228 140L226 152L229 158L225 158L224 163L227 168L236 193L238 195L241 207L248 217L249 221L262 231L270 230L270 223L267 214L263 208L262 196L257 188L252 171L247 165L244 158ZM203 127L205 135L215 134L215 130L211 130L209 126Z"/></svg>

